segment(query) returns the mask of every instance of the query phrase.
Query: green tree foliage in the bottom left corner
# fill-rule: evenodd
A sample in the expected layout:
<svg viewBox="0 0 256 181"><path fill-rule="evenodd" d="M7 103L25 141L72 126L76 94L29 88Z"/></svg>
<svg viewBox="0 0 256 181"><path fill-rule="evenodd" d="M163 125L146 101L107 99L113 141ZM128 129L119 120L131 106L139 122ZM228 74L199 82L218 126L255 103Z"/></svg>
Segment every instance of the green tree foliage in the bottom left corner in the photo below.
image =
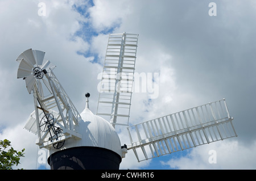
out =
<svg viewBox="0 0 256 181"><path fill-rule="evenodd" d="M24 150L16 151L11 147L11 141L0 140L0 170L13 170L13 166L19 164L20 157L24 157Z"/></svg>

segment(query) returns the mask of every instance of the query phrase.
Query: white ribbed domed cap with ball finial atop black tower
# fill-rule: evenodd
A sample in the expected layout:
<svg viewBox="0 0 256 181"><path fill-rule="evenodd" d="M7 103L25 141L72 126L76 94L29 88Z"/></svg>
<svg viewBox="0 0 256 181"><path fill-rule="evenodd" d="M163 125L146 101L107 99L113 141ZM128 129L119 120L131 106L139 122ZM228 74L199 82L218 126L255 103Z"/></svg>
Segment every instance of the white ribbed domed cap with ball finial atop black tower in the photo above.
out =
<svg viewBox="0 0 256 181"><path fill-rule="evenodd" d="M85 109L80 113L82 117L79 122L79 133L82 134L80 146L96 146L109 149L122 157L121 142L117 132L108 121L94 115L89 110L88 97Z"/></svg>

